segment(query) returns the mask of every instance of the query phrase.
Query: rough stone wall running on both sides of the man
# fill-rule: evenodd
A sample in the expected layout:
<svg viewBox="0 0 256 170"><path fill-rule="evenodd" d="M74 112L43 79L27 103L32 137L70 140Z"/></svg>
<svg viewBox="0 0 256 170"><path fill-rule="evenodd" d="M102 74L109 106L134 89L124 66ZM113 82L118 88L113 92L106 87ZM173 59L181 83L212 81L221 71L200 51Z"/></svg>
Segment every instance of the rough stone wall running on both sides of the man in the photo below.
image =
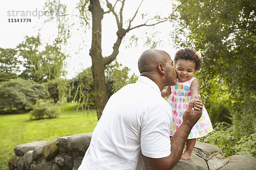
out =
<svg viewBox="0 0 256 170"><path fill-rule="evenodd" d="M93 133L81 133L47 141L20 144L9 160L10 170L77 170ZM228 159L212 144L196 142L191 159L179 160L173 170L256 170L256 159L235 155ZM146 170L143 167L143 170Z"/></svg>

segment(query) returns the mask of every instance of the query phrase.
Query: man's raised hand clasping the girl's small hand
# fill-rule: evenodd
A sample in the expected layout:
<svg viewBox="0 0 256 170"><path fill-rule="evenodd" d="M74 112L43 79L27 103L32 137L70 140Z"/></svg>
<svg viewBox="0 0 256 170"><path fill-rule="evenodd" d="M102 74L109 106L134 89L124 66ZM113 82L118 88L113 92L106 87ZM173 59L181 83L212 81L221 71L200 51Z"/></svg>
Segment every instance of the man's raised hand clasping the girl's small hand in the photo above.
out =
<svg viewBox="0 0 256 170"><path fill-rule="evenodd" d="M194 107L195 110L192 111ZM183 113L183 123L193 127L198 119L202 116L203 102L200 95L195 95L195 99L189 101L189 107Z"/></svg>

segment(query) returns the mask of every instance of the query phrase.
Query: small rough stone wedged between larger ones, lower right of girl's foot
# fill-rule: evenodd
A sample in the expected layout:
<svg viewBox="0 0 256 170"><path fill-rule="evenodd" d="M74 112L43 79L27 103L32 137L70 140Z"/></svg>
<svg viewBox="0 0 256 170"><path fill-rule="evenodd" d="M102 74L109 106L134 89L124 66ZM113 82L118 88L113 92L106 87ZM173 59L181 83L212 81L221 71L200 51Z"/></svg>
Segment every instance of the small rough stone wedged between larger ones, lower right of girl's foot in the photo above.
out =
<svg viewBox="0 0 256 170"><path fill-rule="evenodd" d="M227 159L224 156L222 156L220 153L215 153L209 156L207 164L208 164L209 170L218 170L219 168L227 164Z"/></svg>

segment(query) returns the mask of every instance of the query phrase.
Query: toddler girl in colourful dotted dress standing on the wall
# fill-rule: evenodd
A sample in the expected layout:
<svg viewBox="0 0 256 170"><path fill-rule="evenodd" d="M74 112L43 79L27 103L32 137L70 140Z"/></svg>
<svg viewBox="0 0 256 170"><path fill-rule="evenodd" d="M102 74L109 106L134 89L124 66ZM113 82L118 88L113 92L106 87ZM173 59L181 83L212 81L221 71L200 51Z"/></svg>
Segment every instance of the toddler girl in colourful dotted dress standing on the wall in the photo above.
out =
<svg viewBox="0 0 256 170"><path fill-rule="evenodd" d="M178 82L174 86L167 86L161 92L163 97L170 95L167 99L167 102L172 106L173 117L170 136L173 136L183 122L182 116L188 107L189 100L194 99L195 95L199 94L200 84L198 79L194 77L194 74L201 67L201 53L195 52L190 48L185 48L177 51L174 62ZM198 108L194 105L193 109L197 110ZM182 153L180 159L190 159L196 138L205 136L212 132L212 130L211 120L205 107L203 107L202 116L194 127L192 127L186 140L186 150Z"/></svg>

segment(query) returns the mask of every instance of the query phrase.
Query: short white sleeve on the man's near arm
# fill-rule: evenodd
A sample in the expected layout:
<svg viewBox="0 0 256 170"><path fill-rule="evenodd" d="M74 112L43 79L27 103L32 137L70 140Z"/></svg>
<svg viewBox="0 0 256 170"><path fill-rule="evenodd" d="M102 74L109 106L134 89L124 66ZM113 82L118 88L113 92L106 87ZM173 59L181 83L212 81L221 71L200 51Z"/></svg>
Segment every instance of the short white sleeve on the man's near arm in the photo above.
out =
<svg viewBox="0 0 256 170"><path fill-rule="evenodd" d="M141 152L150 158L163 158L171 154L171 107L153 105L141 116Z"/></svg>

